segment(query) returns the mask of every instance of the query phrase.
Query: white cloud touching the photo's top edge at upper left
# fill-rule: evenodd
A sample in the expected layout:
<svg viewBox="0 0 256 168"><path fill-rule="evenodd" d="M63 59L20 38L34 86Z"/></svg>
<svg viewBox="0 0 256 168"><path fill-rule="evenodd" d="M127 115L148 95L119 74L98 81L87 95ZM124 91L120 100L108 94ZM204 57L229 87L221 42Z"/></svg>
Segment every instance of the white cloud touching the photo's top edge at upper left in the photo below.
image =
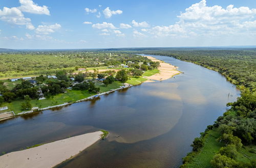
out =
<svg viewBox="0 0 256 168"><path fill-rule="evenodd" d="M23 12L34 13L34 14L45 14L50 15L50 11L47 6L38 6L32 0L19 0L20 7Z"/></svg>

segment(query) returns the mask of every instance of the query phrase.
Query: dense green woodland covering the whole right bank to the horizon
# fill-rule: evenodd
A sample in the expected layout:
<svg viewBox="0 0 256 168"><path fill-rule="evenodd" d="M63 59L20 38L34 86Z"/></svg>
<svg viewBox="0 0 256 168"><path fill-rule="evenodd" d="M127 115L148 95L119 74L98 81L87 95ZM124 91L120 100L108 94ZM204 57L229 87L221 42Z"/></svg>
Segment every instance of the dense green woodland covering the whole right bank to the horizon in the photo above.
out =
<svg viewBox="0 0 256 168"><path fill-rule="evenodd" d="M134 49L136 50L136 49ZM213 125L195 138L193 151L181 167L256 166L256 49L164 49L127 50L174 57L224 75L241 90L236 102Z"/></svg>

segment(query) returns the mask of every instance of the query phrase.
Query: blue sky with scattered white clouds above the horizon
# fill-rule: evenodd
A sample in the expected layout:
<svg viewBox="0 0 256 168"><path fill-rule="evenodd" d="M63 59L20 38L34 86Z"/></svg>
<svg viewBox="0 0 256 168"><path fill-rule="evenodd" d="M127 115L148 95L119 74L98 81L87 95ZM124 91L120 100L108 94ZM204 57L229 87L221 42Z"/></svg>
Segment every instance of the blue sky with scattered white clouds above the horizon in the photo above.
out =
<svg viewBox="0 0 256 168"><path fill-rule="evenodd" d="M255 0L0 0L0 48L256 45Z"/></svg>

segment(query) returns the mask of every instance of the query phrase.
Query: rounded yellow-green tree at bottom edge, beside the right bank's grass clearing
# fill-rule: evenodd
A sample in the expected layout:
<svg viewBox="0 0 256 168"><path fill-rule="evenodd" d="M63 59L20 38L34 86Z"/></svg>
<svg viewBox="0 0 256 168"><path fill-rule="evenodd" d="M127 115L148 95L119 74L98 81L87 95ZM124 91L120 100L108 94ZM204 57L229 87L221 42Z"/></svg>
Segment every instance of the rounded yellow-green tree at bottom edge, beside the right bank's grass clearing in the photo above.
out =
<svg viewBox="0 0 256 168"><path fill-rule="evenodd" d="M214 167L223 168L223 167L235 167L238 164L238 162L225 155L216 154L214 158L211 160L211 164Z"/></svg>

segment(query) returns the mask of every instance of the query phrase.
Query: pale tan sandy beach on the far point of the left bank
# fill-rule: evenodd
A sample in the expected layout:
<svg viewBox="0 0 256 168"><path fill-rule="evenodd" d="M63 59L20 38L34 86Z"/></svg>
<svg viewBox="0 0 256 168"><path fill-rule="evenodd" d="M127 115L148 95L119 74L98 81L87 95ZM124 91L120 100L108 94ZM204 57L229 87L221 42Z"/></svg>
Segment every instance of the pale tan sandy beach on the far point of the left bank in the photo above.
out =
<svg viewBox="0 0 256 168"><path fill-rule="evenodd" d="M160 72L155 75L148 76L147 79L166 80L168 78L173 77L174 75L180 74L180 71L177 70L178 67L176 66L167 64L161 60L155 59L154 57L150 57L150 56L143 56L143 57L146 57L151 61L160 62L160 67L158 68Z"/></svg>

